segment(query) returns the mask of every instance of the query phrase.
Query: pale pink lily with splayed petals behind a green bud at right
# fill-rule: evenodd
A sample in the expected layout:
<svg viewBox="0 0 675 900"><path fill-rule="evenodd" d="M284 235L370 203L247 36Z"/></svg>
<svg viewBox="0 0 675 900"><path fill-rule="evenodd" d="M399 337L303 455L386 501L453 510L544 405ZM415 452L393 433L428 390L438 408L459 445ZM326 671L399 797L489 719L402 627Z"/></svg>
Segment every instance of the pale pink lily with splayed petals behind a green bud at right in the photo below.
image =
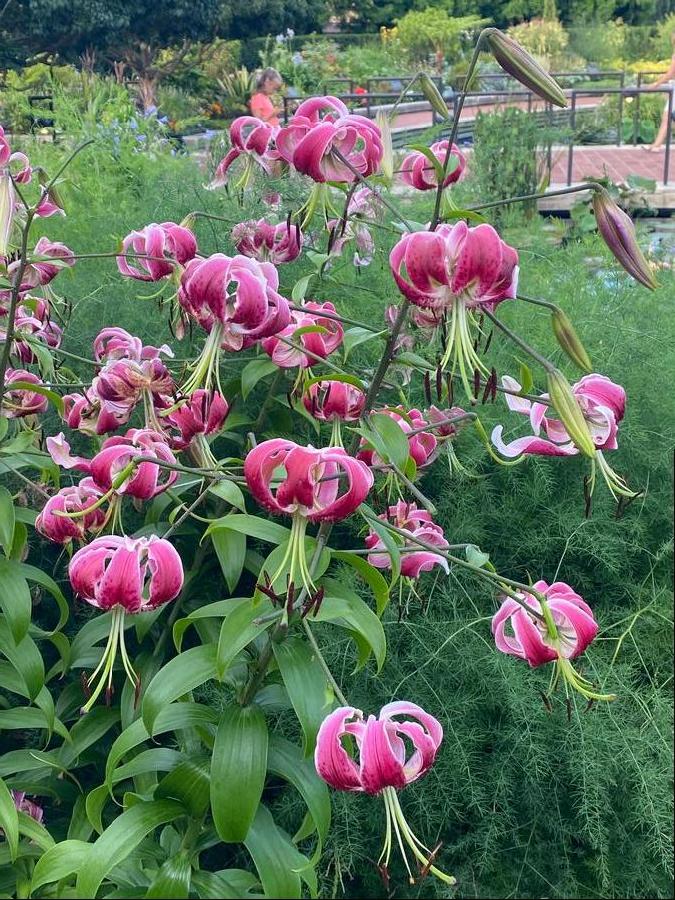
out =
<svg viewBox="0 0 675 900"><path fill-rule="evenodd" d="M510 391L521 389L515 378L509 375L503 376L502 385ZM572 385L572 393L581 408L596 447L589 496L592 495L595 484L596 463L615 500L618 501L620 497L630 499L638 496L604 457L606 450L618 448L617 434L619 423L626 411L626 392L621 385L615 384L605 375L592 374L584 375ZM513 459L521 455L576 456L579 453L560 419L548 415L551 407L547 402L533 403L526 397L517 397L513 394L504 396L509 409L529 417L534 434L516 438L506 444L502 437L503 426L495 426L492 431L492 443L503 456ZM541 399L548 401L548 394L542 394ZM545 437L541 434L542 428Z"/></svg>

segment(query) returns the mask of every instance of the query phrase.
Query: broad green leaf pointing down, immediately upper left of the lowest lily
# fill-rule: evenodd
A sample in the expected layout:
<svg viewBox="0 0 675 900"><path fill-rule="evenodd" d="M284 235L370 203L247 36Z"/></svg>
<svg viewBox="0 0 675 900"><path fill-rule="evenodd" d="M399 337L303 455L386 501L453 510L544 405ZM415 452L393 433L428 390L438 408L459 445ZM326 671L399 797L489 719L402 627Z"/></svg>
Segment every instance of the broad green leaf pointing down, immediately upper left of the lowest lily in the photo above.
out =
<svg viewBox="0 0 675 900"><path fill-rule="evenodd" d="M274 657L302 726L305 756L309 756L319 726L331 710L333 692L314 652L299 635L275 644Z"/></svg>

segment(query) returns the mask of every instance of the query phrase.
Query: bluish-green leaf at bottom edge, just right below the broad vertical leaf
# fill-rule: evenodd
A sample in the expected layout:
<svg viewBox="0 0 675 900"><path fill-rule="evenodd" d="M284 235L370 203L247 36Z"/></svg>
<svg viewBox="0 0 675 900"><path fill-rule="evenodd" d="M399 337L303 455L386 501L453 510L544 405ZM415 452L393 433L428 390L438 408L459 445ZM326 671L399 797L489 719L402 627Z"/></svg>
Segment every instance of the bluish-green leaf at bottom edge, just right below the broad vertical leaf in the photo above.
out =
<svg viewBox="0 0 675 900"><path fill-rule="evenodd" d="M267 807L260 804L244 841L258 870L266 897L296 900L300 897L300 870L309 860L291 843L288 835L277 827ZM316 891L313 891L315 894Z"/></svg>

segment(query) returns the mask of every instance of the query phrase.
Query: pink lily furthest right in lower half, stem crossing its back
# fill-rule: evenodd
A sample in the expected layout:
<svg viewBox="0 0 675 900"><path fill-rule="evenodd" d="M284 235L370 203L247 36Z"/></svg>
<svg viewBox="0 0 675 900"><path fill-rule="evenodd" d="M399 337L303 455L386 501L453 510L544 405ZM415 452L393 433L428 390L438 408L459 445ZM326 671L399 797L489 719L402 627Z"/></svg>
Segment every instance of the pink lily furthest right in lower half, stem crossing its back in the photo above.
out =
<svg viewBox="0 0 675 900"><path fill-rule="evenodd" d="M613 700L613 694L593 690L592 683L579 675L570 662L586 650L598 633L590 606L564 581L551 585L537 581L532 590L544 597L544 603L532 594L519 593L520 603L506 597L493 616L492 634L497 649L526 660L532 668L555 662L552 688L563 678L587 700Z"/></svg>

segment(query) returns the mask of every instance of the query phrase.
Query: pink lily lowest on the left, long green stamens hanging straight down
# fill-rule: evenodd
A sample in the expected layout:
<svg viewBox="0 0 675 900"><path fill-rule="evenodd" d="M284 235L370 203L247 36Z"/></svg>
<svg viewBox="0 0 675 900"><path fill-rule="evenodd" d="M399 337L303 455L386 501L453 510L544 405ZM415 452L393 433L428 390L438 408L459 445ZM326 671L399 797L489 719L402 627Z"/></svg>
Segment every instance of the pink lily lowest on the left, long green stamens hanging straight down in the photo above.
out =
<svg viewBox="0 0 675 900"><path fill-rule="evenodd" d="M95 538L75 553L68 575L78 596L98 609L112 611L108 643L87 680L87 688L101 674L90 699L82 707L84 713L91 709L106 685L110 698L118 647L124 670L138 694L140 682L124 642L125 614L156 609L174 600L183 588L183 564L173 545L156 535L135 539L106 535Z"/></svg>

